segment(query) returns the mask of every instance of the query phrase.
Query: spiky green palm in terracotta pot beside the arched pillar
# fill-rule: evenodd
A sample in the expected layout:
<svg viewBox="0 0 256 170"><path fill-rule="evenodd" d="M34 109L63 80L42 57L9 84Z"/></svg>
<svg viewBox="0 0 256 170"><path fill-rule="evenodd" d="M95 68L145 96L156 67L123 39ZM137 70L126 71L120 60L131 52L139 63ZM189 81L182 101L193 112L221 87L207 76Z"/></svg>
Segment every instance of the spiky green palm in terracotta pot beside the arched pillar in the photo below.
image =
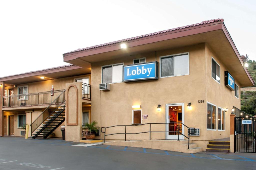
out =
<svg viewBox="0 0 256 170"><path fill-rule="evenodd" d="M97 123L95 120L92 123L85 123L82 126L82 129L85 131L82 131L82 136L86 138L86 140L93 140L95 138L95 130L99 130L100 127L97 126Z"/></svg>

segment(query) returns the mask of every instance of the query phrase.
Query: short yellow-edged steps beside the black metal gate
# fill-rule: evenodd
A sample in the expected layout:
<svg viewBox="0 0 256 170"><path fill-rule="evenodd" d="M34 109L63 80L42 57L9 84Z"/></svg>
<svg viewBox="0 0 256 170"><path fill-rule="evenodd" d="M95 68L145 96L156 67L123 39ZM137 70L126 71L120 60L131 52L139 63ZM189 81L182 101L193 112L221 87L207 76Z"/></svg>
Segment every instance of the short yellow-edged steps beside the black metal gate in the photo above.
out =
<svg viewBox="0 0 256 170"><path fill-rule="evenodd" d="M230 141L209 141L205 151L208 152L230 152Z"/></svg>

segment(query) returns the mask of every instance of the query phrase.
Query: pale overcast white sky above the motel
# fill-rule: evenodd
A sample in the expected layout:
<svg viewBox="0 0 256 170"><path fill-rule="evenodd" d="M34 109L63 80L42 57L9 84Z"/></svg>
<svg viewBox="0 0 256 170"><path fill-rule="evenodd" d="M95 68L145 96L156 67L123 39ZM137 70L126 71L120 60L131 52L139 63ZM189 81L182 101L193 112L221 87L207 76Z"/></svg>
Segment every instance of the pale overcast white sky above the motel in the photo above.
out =
<svg viewBox="0 0 256 170"><path fill-rule="evenodd" d="M256 60L256 1L0 1L0 77L67 65L62 54L223 18L241 55Z"/></svg>

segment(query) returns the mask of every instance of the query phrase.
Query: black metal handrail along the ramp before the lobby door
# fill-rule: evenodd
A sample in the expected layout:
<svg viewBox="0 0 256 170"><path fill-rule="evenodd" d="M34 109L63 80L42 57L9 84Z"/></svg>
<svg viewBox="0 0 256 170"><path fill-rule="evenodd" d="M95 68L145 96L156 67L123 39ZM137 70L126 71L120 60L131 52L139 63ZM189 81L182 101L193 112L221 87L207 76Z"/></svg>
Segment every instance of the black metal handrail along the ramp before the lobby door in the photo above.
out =
<svg viewBox="0 0 256 170"><path fill-rule="evenodd" d="M137 133L127 133L126 132L126 127L127 126L141 126L141 125L146 125L146 124L149 124L149 131L146 131L146 132L137 132ZM178 131L151 131L151 124L178 124ZM184 135L183 133L181 133L179 131L179 125L182 124L184 125L186 128L188 128L188 136ZM112 134L106 134L106 129L107 128L112 128L112 127L116 127L116 126L125 126L125 132L124 133L112 133ZM104 131L103 131L104 129ZM193 133L190 132L190 129L194 129ZM141 133L149 133L149 140L151 140L151 133L162 133L162 132L173 132L173 133L178 133L178 141L180 140L179 139L179 135L183 135L184 137L186 137L188 139L188 149L189 149L189 137L190 137L190 134L194 134L195 133L195 128L189 128L188 126L186 126L185 124L183 123L144 123L144 124L138 124L138 125L115 125L115 126L109 126L109 127L102 127L101 128L101 132L104 133L104 142L106 142L106 136L109 136L109 135L116 135L116 134L124 134L124 141L126 141L126 134L141 134Z"/></svg>

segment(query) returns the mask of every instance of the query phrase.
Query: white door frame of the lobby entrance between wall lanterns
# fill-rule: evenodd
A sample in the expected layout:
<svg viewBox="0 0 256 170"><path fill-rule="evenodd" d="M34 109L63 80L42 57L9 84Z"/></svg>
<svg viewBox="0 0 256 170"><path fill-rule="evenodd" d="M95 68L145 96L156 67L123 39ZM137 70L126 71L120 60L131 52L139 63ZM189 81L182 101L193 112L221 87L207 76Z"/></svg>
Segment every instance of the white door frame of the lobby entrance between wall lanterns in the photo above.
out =
<svg viewBox="0 0 256 170"><path fill-rule="evenodd" d="M168 117L168 113L169 113L169 106L182 106L182 123L184 124L184 103L172 103L172 104L165 104L165 122L169 123L169 117ZM168 122L167 122L168 121ZM166 135L165 135L165 139L178 139L178 135L169 135L167 131L169 131L168 128L169 124L166 124L165 126L165 130L166 130ZM185 133L184 131L184 125L182 125L182 134ZM184 136L183 135L179 135L179 139L183 140Z"/></svg>

